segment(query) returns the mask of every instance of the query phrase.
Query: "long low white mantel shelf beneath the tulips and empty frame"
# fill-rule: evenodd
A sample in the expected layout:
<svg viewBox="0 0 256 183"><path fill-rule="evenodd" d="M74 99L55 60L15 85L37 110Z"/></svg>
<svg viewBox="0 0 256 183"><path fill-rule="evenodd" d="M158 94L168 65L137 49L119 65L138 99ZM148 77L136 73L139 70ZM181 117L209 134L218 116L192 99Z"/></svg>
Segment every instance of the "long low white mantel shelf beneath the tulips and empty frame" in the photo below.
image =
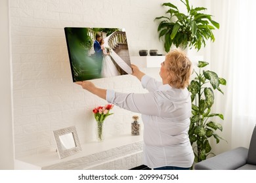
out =
<svg viewBox="0 0 256 183"><path fill-rule="evenodd" d="M63 159L55 151L18 158L15 169L131 169L142 165L142 134L81 144L82 151Z"/></svg>

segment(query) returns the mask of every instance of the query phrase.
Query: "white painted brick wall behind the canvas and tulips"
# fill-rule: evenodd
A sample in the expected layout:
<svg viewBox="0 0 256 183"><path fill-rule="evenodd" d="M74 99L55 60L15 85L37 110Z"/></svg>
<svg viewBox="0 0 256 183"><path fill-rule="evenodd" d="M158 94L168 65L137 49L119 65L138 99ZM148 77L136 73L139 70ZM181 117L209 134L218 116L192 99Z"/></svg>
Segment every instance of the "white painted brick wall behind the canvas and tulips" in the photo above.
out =
<svg viewBox="0 0 256 183"><path fill-rule="evenodd" d="M162 50L154 18L163 14L163 2L9 1L16 157L49 150L55 146L52 131L70 125L77 127L81 143L95 140L91 111L106 101L72 82L64 27L125 27L131 56L140 49ZM93 82L119 92L144 92L128 75ZM113 112L106 120L106 138L130 133L133 113L118 107Z"/></svg>

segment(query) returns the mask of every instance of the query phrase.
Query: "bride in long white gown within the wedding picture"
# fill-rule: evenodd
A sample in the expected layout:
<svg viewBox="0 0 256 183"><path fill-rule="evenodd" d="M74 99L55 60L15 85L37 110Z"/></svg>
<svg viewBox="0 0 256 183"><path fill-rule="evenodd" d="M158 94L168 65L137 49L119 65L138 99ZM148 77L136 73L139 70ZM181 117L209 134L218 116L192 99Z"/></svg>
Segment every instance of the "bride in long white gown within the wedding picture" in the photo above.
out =
<svg viewBox="0 0 256 183"><path fill-rule="evenodd" d="M110 53L106 51L106 48L104 47L104 39L101 39L100 45L102 47L103 51L103 59L102 59L102 69L101 69L101 76L103 78L108 78L112 76L119 76L120 73L116 69L116 66L114 65Z"/></svg>

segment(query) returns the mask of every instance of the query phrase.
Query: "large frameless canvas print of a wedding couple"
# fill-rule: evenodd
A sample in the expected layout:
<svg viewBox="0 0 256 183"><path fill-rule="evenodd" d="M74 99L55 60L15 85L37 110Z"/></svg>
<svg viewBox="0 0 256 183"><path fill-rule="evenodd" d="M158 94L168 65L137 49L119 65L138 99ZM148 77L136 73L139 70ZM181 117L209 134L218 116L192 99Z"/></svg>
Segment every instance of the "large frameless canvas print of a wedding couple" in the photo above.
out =
<svg viewBox="0 0 256 183"><path fill-rule="evenodd" d="M73 82L131 74L124 28L64 27Z"/></svg>

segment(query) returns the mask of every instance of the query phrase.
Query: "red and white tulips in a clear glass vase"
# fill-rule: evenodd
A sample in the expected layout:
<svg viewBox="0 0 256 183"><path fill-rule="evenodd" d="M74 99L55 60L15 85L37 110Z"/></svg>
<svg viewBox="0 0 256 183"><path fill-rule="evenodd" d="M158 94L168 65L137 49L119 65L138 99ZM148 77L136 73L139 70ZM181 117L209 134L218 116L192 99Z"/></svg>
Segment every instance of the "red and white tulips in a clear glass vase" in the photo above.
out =
<svg viewBox="0 0 256 183"><path fill-rule="evenodd" d="M106 117L114 114L110 113L110 110L114 107L112 104L107 104L105 106L98 106L93 109L95 115L95 120L97 122L97 139L98 141L104 140L104 120Z"/></svg>

